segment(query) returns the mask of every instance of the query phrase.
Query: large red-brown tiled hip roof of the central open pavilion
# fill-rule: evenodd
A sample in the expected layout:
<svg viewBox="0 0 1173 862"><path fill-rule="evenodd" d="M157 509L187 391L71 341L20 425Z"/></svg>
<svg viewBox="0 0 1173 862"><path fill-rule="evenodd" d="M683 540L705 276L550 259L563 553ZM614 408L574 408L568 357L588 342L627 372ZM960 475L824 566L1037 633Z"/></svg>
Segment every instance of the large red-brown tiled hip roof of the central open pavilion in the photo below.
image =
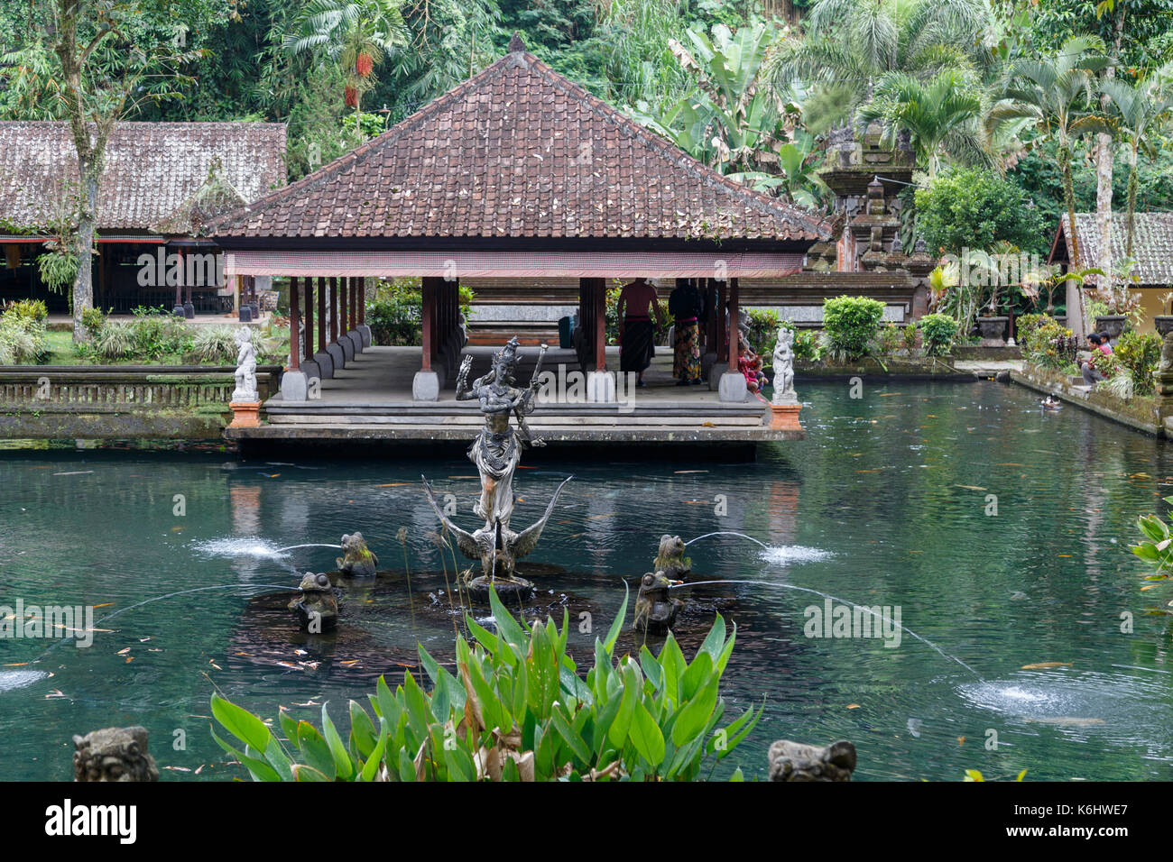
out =
<svg viewBox="0 0 1173 862"><path fill-rule="evenodd" d="M793 249L830 236L822 217L723 177L510 47L518 49L210 232L317 247L572 238Z"/></svg>

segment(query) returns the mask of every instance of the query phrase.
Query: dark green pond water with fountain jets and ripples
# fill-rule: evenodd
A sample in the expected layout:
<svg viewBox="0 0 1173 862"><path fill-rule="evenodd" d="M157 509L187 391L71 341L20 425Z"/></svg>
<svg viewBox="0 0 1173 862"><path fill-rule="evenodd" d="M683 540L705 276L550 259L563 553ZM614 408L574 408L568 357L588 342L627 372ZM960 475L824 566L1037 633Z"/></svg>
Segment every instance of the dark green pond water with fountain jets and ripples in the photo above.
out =
<svg viewBox="0 0 1173 862"><path fill-rule="evenodd" d="M595 634L578 633L581 615L604 632L662 534L744 532L768 549L700 539L693 578L767 583L693 588L677 625L691 657L714 612L735 623L728 718L766 699L723 765L764 778L774 739L846 738L860 780L1173 778L1171 618L1145 613L1171 596L1140 592L1127 550L1137 516L1173 494L1173 449L1072 407L1044 415L1037 395L992 382L873 385L856 400L808 384L802 396L807 440L761 447L754 464L528 457L515 528L575 476L520 566L540 588L530 613L564 608L584 666ZM68 779L74 733L129 724L150 731L164 780L243 776L211 740L213 690L266 718L284 705L317 722L330 701L345 725L347 699L365 703L380 673L401 679L416 639L452 659L456 615L419 480L455 494L472 529L468 461L273 461L0 453L0 605L101 605L102 630L89 649L0 640L0 779ZM384 573L340 582L335 637L300 633L276 588L332 569L337 551L277 549L354 530ZM806 637L823 598L787 588L899 608L930 643ZM195 592L133 606L179 591ZM621 649L639 642L625 633ZM1047 661L1070 666L1022 670Z"/></svg>

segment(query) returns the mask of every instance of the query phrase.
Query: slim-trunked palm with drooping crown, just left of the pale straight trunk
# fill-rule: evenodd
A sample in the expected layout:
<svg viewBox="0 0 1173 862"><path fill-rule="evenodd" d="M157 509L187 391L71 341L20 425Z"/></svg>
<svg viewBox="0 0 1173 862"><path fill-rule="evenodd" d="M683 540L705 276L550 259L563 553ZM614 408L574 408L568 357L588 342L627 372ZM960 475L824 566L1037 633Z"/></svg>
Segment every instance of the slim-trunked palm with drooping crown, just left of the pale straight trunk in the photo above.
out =
<svg viewBox="0 0 1173 862"><path fill-rule="evenodd" d="M1092 73L1104 66L1104 43L1096 36L1072 36L1058 53L1015 62L1002 99L985 117L986 129L996 133L1006 123L1024 118L1035 124L1040 138L1058 144L1063 172L1063 199L1071 232L1071 265L1078 267L1079 240L1076 237L1076 196L1071 178L1071 143L1079 135L1104 128L1101 117L1090 113Z"/></svg>

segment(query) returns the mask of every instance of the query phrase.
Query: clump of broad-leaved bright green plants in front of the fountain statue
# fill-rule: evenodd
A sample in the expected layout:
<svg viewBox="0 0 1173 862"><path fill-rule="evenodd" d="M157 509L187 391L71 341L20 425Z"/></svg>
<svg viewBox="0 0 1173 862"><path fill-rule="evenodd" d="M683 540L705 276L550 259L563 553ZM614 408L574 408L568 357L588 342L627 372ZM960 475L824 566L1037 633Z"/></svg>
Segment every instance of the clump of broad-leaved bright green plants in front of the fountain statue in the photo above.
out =
<svg viewBox="0 0 1173 862"><path fill-rule="evenodd" d="M233 739L215 728L212 737L257 781L691 781L706 766L711 773L761 717L764 707L751 706L718 727L735 636L726 638L720 616L691 663L671 634L659 656L643 646L638 659L617 659L624 598L581 677L567 653L565 612L560 630L552 619L516 620L495 592L490 604L497 632L466 618L473 643L456 638L455 673L420 646L432 690L411 672L394 692L380 677L371 712L350 703L347 740L326 705L320 731L282 711L283 741L217 694L212 717Z"/></svg>

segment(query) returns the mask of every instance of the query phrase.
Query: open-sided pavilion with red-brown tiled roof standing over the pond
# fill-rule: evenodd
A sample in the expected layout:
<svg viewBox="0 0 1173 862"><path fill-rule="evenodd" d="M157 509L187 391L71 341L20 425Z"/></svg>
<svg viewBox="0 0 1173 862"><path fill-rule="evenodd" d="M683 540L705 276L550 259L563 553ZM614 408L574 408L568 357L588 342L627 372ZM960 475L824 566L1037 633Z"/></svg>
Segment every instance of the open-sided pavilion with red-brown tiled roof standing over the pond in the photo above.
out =
<svg viewBox="0 0 1173 862"><path fill-rule="evenodd" d="M829 219L691 158L514 36L506 56L416 114L212 223L228 276L291 284L280 394L265 405L267 425L236 436L467 440L481 418L454 399L456 371L473 355L474 374L483 373L490 348L467 345L461 280L511 283L524 297L529 285L569 278L578 284L574 347L555 346L543 369L578 373L582 398L540 402L530 419L540 435L800 437L769 427L768 406L746 391L727 345L737 344L740 279L798 273L833 233ZM422 347L372 345L368 284L407 276L422 284ZM701 332L711 386L632 392L617 378L605 294L636 277L669 287L689 279L705 294L714 310ZM523 348L530 367L536 353Z"/></svg>

